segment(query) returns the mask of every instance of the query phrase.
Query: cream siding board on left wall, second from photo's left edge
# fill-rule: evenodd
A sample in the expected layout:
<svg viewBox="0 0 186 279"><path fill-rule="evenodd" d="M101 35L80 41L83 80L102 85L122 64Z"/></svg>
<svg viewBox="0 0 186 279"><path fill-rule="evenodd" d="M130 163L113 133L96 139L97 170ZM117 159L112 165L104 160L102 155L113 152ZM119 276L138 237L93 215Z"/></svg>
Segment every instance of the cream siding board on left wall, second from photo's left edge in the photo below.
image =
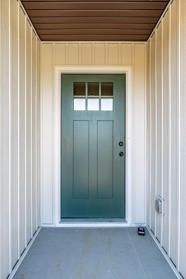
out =
<svg viewBox="0 0 186 279"><path fill-rule="evenodd" d="M17 58L17 2L10 1L10 39L11 39L11 262L16 262L18 258L17 238L18 238L18 211L17 211L17 196L18 196L18 76L15 69L18 67Z"/></svg>

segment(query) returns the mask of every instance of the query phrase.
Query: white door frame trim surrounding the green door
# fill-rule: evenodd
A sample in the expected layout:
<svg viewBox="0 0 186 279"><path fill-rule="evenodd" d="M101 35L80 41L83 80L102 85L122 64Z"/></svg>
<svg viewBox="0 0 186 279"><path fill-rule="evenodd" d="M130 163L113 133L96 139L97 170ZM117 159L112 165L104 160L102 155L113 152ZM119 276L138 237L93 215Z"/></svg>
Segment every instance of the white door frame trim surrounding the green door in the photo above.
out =
<svg viewBox="0 0 186 279"><path fill-rule="evenodd" d="M125 206L126 223L60 223L61 219L61 74L125 74L126 75L126 136L125 136ZM133 191L133 67L132 66L56 66L53 70L53 185L55 226L57 227L121 227L131 226Z"/></svg>

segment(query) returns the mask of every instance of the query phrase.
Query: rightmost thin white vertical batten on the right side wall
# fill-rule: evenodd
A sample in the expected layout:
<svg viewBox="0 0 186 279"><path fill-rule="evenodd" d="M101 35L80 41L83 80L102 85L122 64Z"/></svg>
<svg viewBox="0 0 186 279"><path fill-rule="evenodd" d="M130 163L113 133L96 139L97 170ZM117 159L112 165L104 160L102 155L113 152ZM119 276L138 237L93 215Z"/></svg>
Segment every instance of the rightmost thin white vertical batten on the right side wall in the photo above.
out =
<svg viewBox="0 0 186 279"><path fill-rule="evenodd" d="M180 81L180 51L181 51L181 0L179 0L179 19L178 19L178 264L180 271L180 198L181 198L181 81Z"/></svg>

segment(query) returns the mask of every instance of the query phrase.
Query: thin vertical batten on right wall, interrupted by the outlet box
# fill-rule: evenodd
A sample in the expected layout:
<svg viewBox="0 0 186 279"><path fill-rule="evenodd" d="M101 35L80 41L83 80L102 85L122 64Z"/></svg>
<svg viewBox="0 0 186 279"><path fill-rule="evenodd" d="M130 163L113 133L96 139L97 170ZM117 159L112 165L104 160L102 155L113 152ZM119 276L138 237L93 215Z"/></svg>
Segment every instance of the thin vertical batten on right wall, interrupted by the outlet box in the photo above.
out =
<svg viewBox="0 0 186 279"><path fill-rule="evenodd" d="M163 18L162 18L162 44L161 44L161 69L162 69L162 72L161 72L161 76L162 76L162 198L163 198ZM162 222L161 222L161 246L162 246L162 243L163 243L163 218L162 219Z"/></svg>

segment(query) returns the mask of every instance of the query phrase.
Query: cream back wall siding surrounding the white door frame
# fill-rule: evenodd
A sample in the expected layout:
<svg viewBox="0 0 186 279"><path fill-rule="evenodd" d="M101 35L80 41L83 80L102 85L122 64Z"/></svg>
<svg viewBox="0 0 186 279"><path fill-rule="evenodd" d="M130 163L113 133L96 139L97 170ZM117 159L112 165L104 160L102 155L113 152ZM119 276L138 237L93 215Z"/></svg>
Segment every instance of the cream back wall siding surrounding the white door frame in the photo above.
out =
<svg viewBox="0 0 186 279"><path fill-rule="evenodd" d="M132 65L132 224L146 223L146 43L42 42L41 44L41 222L55 226L53 169L53 66ZM59 104L60 105L60 104ZM130 224L129 224L130 225Z"/></svg>

